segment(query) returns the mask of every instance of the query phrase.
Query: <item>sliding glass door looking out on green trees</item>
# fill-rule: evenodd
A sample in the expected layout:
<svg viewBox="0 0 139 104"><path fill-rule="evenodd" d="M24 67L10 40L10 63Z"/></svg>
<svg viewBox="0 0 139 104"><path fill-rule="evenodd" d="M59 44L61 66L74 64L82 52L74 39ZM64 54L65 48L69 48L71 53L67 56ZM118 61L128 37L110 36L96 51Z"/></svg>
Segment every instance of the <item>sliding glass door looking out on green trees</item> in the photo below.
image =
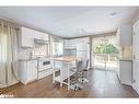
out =
<svg viewBox="0 0 139 104"><path fill-rule="evenodd" d="M115 70L117 68L117 41L115 36L92 39L92 65L95 69Z"/></svg>

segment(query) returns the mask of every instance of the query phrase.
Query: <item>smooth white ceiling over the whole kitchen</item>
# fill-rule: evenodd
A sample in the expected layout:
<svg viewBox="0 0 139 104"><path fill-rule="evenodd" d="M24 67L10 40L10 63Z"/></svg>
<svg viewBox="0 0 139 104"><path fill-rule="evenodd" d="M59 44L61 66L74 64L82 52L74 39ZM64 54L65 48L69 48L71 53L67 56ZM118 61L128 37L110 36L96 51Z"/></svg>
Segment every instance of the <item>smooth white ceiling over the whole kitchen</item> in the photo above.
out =
<svg viewBox="0 0 139 104"><path fill-rule="evenodd" d="M131 21L137 7L0 7L0 16L61 37L114 32Z"/></svg>

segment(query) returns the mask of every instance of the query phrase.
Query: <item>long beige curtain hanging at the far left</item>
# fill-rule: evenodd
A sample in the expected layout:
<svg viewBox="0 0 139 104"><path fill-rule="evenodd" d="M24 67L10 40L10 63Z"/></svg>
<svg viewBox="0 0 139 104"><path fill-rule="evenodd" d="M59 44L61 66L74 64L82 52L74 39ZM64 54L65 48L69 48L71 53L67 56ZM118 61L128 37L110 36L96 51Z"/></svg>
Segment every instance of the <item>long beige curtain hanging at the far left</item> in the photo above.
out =
<svg viewBox="0 0 139 104"><path fill-rule="evenodd" d="M7 22L0 22L0 88L18 82L16 30Z"/></svg>

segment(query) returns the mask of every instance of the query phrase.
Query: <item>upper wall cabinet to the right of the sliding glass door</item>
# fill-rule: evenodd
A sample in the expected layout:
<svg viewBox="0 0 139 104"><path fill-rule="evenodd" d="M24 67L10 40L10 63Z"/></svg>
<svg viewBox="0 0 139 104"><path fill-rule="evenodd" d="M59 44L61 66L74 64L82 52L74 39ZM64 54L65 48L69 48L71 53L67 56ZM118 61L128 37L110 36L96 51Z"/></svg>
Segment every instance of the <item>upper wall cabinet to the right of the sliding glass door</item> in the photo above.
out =
<svg viewBox="0 0 139 104"><path fill-rule="evenodd" d="M131 24L119 26L116 35L119 46L131 46Z"/></svg>

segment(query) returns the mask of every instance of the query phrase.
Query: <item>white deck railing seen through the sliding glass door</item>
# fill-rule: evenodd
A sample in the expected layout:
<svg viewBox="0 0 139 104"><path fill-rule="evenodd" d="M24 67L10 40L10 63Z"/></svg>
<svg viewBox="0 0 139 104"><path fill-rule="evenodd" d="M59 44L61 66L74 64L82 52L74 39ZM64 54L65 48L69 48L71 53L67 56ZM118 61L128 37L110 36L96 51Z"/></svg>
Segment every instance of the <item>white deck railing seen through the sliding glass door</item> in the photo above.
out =
<svg viewBox="0 0 139 104"><path fill-rule="evenodd" d="M116 54L93 54L93 67L99 69L116 70L118 55Z"/></svg>

